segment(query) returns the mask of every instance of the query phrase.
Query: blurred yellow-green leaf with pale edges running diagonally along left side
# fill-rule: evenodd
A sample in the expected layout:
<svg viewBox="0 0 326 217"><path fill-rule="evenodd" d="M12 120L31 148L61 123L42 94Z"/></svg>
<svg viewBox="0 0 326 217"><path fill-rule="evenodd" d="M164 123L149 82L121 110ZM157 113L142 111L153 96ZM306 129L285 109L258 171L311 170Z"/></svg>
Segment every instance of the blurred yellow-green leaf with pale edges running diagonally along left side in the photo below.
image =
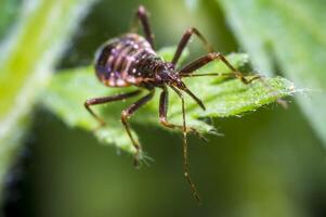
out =
<svg viewBox="0 0 326 217"><path fill-rule="evenodd" d="M1 183L8 168L17 156L19 141L31 119L32 105L91 2L24 1L17 23L1 43Z"/></svg>

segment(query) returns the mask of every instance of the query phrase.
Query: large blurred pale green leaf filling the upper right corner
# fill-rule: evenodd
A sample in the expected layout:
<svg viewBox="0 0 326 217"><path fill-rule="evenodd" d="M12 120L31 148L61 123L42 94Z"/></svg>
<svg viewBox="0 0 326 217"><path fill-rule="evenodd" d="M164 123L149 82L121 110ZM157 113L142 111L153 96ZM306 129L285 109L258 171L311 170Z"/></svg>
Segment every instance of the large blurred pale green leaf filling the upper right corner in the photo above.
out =
<svg viewBox="0 0 326 217"><path fill-rule="evenodd" d="M229 23L261 72L281 73L297 87L302 111L326 144L326 4L320 0L221 0ZM258 18L259 17L259 18ZM268 74L268 73L266 73Z"/></svg>

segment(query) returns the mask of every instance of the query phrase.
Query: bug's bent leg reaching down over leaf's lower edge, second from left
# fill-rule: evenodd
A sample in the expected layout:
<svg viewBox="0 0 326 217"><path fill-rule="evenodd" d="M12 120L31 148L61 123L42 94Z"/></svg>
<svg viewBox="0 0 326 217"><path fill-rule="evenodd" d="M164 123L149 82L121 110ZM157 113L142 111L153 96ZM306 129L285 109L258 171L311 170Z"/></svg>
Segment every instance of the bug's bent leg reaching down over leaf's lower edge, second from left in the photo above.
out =
<svg viewBox="0 0 326 217"><path fill-rule="evenodd" d="M146 94L145 97L141 98L140 100L138 100L135 103L133 103L132 105L130 105L129 107L127 107L126 110L123 110L121 112L121 122L126 128L126 131L132 142L132 145L135 149L135 154L134 154L134 166L139 166L139 159L140 159L140 153L141 153L141 145L136 142L136 140L134 140L134 138L132 137L131 130L130 130L130 126L128 123L129 117L136 111L139 110L142 105L146 104L154 95L155 90L151 90L151 92L148 94Z"/></svg>

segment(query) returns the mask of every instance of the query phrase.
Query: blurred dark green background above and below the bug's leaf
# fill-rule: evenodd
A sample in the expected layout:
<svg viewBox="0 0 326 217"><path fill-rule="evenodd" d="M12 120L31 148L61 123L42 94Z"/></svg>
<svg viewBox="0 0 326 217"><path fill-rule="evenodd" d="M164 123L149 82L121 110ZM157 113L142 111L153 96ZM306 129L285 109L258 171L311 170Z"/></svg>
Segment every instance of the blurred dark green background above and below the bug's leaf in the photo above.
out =
<svg viewBox="0 0 326 217"><path fill-rule="evenodd" d="M239 2L255 4L255 1ZM300 2L304 5L304 1ZM1 29L9 29L14 26L22 2L2 3L10 13L1 17ZM222 53L250 53L248 47L238 42L242 41L237 39L238 33L231 28L230 4L223 1L102 0L80 18L55 68L92 63L99 44L128 31L140 3L151 12L157 48L177 44L183 31L195 26ZM269 28L269 23L265 25ZM10 36L6 31L0 34L1 38ZM204 52L197 40L193 41L191 51L192 55ZM314 59L314 53L310 55ZM285 69L275 59L273 69L282 74ZM294 75L282 75L294 78ZM214 126L224 137L209 136L208 143L195 137L188 139L191 169L203 199L201 206L192 199L182 176L179 133L134 125L144 150L154 158L148 167L134 169L129 154L102 145L89 132L65 126L42 106L34 107L28 116L34 122L24 138L24 148L17 151L18 157L6 175L3 215L326 216L322 140L325 135L316 132L310 120L314 114L302 112L300 106L291 98L288 110L272 105L243 117L214 119Z"/></svg>

